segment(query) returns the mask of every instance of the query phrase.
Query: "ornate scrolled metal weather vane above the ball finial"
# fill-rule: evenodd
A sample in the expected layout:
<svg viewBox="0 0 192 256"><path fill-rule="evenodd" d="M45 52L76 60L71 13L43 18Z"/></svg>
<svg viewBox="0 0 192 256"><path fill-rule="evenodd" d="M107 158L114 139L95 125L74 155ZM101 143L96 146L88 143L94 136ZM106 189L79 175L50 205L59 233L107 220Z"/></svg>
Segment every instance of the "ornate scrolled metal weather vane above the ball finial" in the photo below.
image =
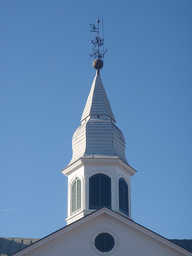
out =
<svg viewBox="0 0 192 256"><path fill-rule="evenodd" d="M98 16L97 27L95 23L89 24L91 27L90 32L97 33L97 35L95 36L95 39L91 41L91 43L93 44L93 48L92 48L93 53L89 55L90 58L92 57L92 58L102 59L104 58L105 52L107 52L107 49L104 49L104 38L99 37L99 23L100 23L100 20ZM103 32L103 18L102 18L102 32Z"/></svg>

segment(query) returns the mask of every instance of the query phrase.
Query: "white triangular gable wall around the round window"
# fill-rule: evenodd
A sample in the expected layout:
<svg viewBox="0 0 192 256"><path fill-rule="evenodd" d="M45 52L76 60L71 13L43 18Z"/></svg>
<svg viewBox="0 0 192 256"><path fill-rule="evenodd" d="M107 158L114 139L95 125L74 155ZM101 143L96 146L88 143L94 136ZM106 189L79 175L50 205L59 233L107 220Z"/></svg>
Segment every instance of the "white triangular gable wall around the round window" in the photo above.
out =
<svg viewBox="0 0 192 256"><path fill-rule="evenodd" d="M99 233L113 236L115 246L110 252L96 249L94 239ZM104 207L14 254L22 255L192 256L192 253Z"/></svg>

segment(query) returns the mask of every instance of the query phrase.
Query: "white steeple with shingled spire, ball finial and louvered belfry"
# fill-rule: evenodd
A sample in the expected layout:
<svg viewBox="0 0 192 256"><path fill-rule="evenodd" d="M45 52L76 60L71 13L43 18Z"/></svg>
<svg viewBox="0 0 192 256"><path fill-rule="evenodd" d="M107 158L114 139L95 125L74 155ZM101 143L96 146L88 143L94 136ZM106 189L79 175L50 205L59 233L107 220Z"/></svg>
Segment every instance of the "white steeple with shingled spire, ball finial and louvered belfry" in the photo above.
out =
<svg viewBox="0 0 192 256"><path fill-rule="evenodd" d="M68 177L67 224L102 207L131 218L130 177L136 170L125 157L125 139L100 77L102 65L101 59L93 61L96 77L73 134L73 157L62 170Z"/></svg>

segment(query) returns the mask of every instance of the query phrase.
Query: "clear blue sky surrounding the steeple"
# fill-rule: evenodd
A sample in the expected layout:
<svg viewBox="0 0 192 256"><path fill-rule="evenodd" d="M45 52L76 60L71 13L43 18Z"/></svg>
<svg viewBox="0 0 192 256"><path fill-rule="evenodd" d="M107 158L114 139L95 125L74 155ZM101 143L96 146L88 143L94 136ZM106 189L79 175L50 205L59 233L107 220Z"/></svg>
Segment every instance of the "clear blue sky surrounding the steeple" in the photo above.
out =
<svg viewBox="0 0 192 256"><path fill-rule="evenodd" d="M138 171L132 217L192 239L191 0L0 0L0 236L41 238L66 225L60 171L95 76L98 14L102 81Z"/></svg>

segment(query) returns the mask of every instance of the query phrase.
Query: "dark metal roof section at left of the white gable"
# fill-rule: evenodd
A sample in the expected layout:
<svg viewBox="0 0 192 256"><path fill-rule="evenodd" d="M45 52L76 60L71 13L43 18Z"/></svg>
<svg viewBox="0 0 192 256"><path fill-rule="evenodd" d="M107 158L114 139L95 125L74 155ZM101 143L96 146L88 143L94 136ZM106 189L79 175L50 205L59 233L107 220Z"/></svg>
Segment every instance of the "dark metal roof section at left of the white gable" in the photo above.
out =
<svg viewBox="0 0 192 256"><path fill-rule="evenodd" d="M9 256L39 239L0 237L0 256Z"/></svg>

